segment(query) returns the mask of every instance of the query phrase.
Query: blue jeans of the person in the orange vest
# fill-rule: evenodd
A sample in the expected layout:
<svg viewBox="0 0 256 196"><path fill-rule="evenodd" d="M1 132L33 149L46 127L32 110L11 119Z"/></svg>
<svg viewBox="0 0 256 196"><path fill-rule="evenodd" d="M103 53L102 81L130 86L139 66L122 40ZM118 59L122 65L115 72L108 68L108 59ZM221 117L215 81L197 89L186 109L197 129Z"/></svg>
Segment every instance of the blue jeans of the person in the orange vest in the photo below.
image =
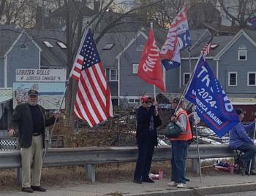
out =
<svg viewBox="0 0 256 196"><path fill-rule="evenodd" d="M172 141L171 180L186 184L185 173L187 165L188 141Z"/></svg>

